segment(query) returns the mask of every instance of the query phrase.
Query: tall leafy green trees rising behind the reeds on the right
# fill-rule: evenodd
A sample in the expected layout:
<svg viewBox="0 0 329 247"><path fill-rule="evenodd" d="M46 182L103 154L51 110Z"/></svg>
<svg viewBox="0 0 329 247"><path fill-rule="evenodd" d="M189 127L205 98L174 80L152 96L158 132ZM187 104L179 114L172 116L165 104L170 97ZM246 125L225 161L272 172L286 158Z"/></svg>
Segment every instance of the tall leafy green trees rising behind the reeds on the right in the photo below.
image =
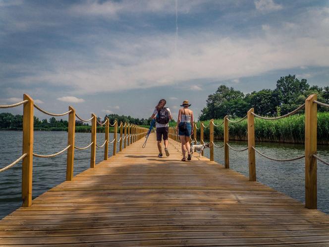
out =
<svg viewBox="0 0 329 247"><path fill-rule="evenodd" d="M306 79L299 80L290 74L281 76L274 90L262 89L244 94L233 87L220 85L214 94L208 96L199 120L222 119L226 115L244 117L250 108L254 108L258 115L281 116L302 105L314 93L318 94L318 101L329 104L329 86L310 86ZM318 111L328 109L319 107Z"/></svg>

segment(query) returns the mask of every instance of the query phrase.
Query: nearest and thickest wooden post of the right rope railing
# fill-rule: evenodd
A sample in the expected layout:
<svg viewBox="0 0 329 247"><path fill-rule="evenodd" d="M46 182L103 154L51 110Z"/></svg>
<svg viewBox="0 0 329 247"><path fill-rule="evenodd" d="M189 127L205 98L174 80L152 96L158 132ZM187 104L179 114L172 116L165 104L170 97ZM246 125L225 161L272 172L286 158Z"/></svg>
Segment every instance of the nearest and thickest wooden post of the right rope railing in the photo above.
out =
<svg viewBox="0 0 329 247"><path fill-rule="evenodd" d="M310 95L305 100L305 206L317 208L317 126L318 106L314 103L318 96Z"/></svg>

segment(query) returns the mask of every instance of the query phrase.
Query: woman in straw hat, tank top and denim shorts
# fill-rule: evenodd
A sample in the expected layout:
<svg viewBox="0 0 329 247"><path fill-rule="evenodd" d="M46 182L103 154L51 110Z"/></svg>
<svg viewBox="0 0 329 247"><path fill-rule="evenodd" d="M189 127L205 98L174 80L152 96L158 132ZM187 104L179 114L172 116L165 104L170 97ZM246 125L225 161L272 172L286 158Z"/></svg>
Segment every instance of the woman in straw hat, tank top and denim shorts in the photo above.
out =
<svg viewBox="0 0 329 247"><path fill-rule="evenodd" d="M187 160L191 160L189 139L191 134L193 134L193 125L191 124L193 123L193 112L188 109L188 107L191 106L188 103L188 100L184 100L181 106L183 108L179 109L178 112L176 131L178 132L179 139L182 144L182 161L186 161L186 151L188 153Z"/></svg>

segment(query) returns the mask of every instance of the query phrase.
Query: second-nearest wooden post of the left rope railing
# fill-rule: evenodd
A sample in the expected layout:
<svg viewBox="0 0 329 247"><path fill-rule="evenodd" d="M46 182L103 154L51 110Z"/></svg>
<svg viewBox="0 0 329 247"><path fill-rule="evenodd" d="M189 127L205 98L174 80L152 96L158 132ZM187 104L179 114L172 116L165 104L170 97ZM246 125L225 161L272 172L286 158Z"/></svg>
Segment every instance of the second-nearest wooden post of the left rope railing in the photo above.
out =
<svg viewBox="0 0 329 247"><path fill-rule="evenodd" d="M67 149L66 181L72 181L75 145L75 109L69 106L68 110L71 112L68 114L67 145L70 145L70 147Z"/></svg>

